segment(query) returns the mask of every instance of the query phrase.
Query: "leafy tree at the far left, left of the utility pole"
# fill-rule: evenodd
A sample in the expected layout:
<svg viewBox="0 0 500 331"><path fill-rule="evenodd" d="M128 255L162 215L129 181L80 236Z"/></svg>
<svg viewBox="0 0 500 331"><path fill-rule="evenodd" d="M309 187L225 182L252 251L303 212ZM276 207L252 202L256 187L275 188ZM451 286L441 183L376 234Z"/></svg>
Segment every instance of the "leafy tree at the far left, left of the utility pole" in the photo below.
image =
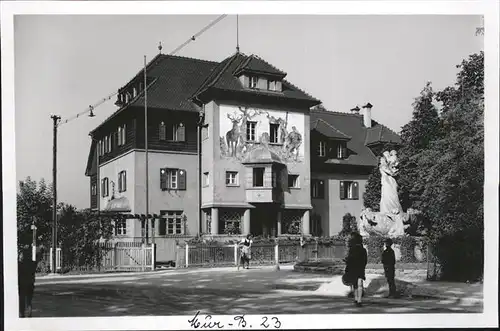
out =
<svg viewBox="0 0 500 331"><path fill-rule="evenodd" d="M44 179L39 183L27 177L19 182L17 193L18 247L32 243L31 225L37 227L37 244L50 245L52 236L52 188Z"/></svg>

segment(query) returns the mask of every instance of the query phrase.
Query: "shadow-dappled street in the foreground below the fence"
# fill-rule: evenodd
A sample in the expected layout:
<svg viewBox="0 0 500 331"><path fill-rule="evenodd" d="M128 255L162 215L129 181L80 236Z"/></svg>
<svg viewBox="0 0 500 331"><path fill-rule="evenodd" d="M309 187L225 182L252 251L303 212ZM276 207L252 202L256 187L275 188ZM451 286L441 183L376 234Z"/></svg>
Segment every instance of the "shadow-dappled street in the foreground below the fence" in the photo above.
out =
<svg viewBox="0 0 500 331"><path fill-rule="evenodd" d="M202 314L466 313L482 305L455 300L352 299L314 292L327 276L269 268L154 272L37 280L33 317Z"/></svg>

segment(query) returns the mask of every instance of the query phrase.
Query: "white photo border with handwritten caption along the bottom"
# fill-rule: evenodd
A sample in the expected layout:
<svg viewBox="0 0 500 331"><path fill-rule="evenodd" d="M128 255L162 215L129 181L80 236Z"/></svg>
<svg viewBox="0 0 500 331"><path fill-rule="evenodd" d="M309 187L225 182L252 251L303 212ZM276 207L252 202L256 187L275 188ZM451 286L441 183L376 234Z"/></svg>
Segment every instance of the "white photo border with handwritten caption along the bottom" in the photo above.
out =
<svg viewBox="0 0 500 331"><path fill-rule="evenodd" d="M29 14L321 14L484 15L485 33L485 273L482 314L278 315L282 328L498 327L498 1L2 1L2 176L4 316L7 330L180 330L191 316L18 318L16 278L16 158L14 104L14 15ZM257 317L257 315L253 315ZM219 320L232 316L217 316ZM254 317L252 317L254 318Z"/></svg>

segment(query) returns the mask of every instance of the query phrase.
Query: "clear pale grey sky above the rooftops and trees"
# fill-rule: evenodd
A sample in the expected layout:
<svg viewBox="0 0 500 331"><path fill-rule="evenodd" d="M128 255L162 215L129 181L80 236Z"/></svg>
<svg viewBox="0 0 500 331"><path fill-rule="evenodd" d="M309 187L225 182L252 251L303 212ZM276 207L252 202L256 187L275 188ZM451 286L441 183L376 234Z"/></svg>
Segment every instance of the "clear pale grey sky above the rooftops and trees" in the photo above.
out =
<svg viewBox="0 0 500 331"><path fill-rule="evenodd" d="M22 15L14 19L16 179L52 181L51 114L65 118L125 85L150 60L169 53L217 15ZM376 121L399 132L412 103L432 82L454 84L463 59L483 49L479 16L240 15L240 50L287 72L287 80L348 112L373 104ZM236 51L229 15L177 55L222 61ZM58 199L89 207L85 167L89 132L117 110L115 98L60 126Z"/></svg>

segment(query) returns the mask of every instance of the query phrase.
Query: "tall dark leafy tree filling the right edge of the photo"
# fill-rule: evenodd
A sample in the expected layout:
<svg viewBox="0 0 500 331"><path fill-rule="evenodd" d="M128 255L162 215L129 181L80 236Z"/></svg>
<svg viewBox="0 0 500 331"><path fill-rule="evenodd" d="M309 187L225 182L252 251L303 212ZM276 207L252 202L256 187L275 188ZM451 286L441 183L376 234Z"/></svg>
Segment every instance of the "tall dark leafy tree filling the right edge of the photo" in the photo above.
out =
<svg viewBox="0 0 500 331"><path fill-rule="evenodd" d="M443 277L473 280L483 271L484 54L458 67L457 83L438 93L442 135L419 154L420 201Z"/></svg>

